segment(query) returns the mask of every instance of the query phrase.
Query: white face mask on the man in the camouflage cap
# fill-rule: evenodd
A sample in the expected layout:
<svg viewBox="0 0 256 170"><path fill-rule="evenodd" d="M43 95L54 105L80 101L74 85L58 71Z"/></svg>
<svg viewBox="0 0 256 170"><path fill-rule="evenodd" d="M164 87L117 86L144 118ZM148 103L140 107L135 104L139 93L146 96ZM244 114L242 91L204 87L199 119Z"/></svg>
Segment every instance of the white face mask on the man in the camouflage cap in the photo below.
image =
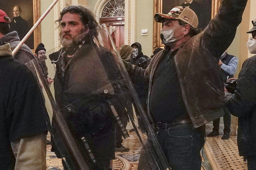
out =
<svg viewBox="0 0 256 170"><path fill-rule="evenodd" d="M182 37L184 37L184 35L182 35L181 37L179 37L178 39L176 37L174 37L174 30L177 28L181 28L183 25L176 27L176 28L171 28L171 29L162 29L160 31L160 38L163 42L164 45L173 43L174 41L180 40L182 39Z"/></svg>

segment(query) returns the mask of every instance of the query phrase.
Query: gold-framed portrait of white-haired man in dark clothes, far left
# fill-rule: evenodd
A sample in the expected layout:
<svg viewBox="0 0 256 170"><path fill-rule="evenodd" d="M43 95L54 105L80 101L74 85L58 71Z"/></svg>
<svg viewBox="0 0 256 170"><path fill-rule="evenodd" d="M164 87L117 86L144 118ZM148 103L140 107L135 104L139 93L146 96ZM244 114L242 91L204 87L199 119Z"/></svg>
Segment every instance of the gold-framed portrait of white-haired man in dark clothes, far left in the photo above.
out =
<svg viewBox="0 0 256 170"><path fill-rule="evenodd" d="M17 31L22 40L40 17L40 0L8 0L8 3L0 1L0 9L12 20L11 31ZM40 41L41 28L39 25L25 44L34 52Z"/></svg>

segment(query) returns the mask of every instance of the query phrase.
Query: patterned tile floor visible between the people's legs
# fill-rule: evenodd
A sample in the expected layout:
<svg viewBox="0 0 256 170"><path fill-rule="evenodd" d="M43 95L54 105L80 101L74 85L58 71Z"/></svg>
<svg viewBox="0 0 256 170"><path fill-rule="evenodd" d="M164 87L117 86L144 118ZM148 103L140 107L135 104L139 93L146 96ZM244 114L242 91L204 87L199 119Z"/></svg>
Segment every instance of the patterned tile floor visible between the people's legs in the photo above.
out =
<svg viewBox="0 0 256 170"><path fill-rule="evenodd" d="M129 152L116 152L116 159L112 161L113 170L137 170L139 162L140 142L135 138L135 132L129 132L130 139L125 139L123 146L130 148ZM49 135L47 136L49 139ZM146 135L145 135L146 138ZM63 170L61 159L51 152L51 145L47 145L47 170ZM222 140L221 136L207 137L203 149L201 170L247 170L247 162L238 155L236 136Z"/></svg>

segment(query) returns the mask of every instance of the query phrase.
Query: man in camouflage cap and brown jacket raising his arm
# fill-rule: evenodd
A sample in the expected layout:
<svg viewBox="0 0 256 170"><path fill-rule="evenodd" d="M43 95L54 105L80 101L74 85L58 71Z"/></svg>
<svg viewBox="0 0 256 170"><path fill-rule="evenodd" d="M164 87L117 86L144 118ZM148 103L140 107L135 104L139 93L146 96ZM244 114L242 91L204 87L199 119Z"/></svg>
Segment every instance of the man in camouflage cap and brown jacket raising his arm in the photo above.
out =
<svg viewBox="0 0 256 170"><path fill-rule="evenodd" d="M155 20L163 23L164 49L145 70L124 62L135 84L142 80L149 84L148 117L156 125L156 136L172 170L201 169L205 124L224 115L218 62L233 41L246 3L223 0L201 33L197 15L189 7L156 13Z"/></svg>

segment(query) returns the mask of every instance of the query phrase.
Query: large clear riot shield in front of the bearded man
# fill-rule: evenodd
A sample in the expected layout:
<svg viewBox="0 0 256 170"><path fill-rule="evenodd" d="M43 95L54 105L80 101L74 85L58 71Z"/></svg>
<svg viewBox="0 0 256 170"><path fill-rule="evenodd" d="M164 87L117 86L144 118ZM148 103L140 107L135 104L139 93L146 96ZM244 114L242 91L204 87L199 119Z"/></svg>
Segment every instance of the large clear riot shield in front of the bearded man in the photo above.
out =
<svg viewBox="0 0 256 170"><path fill-rule="evenodd" d="M38 62L27 64L51 106L47 124L65 169L125 169L127 160L140 170L170 169L106 25L81 37L72 57L55 53L55 97Z"/></svg>

